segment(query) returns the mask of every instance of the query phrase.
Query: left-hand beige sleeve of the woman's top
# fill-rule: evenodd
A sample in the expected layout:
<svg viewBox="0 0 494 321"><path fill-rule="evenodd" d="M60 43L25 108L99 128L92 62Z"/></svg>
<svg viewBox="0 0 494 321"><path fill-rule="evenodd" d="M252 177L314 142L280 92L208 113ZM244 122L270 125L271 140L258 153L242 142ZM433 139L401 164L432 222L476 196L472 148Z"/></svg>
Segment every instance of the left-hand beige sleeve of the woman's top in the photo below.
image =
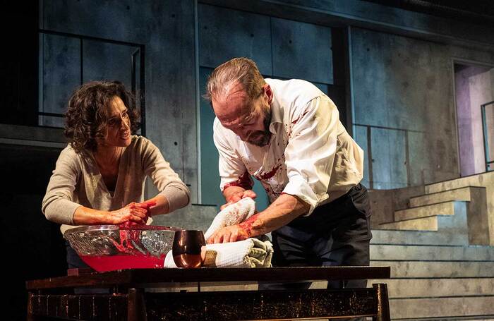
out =
<svg viewBox="0 0 494 321"><path fill-rule="evenodd" d="M73 155L75 153L68 149L60 153L42 202L44 216L58 224L73 225L74 212L80 206L73 202L73 192L80 173Z"/></svg>

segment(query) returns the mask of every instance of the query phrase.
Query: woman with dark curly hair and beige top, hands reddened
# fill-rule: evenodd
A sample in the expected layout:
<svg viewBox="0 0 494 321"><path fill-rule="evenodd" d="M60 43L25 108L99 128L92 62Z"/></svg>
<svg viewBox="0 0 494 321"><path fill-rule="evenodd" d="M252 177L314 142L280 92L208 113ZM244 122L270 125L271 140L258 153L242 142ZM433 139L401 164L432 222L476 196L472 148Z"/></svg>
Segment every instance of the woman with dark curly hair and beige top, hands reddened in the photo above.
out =
<svg viewBox="0 0 494 321"><path fill-rule="evenodd" d="M72 95L65 114L67 147L44 195L49 221L74 225L146 224L147 218L188 204L190 192L139 127L122 83L93 81ZM159 193L143 202L145 178ZM66 244L68 268L87 267Z"/></svg>

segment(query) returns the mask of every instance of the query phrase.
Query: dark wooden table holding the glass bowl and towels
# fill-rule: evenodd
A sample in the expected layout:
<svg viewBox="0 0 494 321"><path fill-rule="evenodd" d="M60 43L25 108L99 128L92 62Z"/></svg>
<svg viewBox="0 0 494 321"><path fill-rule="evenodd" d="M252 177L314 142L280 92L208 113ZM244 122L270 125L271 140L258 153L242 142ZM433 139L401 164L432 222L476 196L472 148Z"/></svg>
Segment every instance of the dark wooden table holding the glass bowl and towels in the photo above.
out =
<svg viewBox="0 0 494 321"><path fill-rule="evenodd" d="M28 320L294 320L368 316L390 320L386 284L364 289L201 291L200 284L387 279L390 267L126 269L27 281ZM150 292L197 284L198 291ZM108 293L74 294L106 288Z"/></svg>

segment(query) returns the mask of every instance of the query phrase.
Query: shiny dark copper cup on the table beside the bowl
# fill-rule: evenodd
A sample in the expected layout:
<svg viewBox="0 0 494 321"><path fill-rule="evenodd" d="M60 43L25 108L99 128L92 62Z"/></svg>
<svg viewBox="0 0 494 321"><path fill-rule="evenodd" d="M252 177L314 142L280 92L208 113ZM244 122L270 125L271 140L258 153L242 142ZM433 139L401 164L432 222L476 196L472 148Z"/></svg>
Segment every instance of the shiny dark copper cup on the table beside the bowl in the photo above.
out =
<svg viewBox="0 0 494 321"><path fill-rule="evenodd" d="M206 246L203 231L175 231L171 254L177 267L195 268L203 266L201 250Z"/></svg>

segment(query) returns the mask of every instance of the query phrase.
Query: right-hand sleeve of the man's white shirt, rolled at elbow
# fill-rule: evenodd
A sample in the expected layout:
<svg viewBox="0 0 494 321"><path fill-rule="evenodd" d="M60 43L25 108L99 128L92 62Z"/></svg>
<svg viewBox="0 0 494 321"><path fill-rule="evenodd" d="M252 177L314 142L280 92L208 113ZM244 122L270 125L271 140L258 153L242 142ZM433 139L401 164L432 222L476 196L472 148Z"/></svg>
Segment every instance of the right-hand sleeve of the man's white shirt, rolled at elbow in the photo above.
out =
<svg viewBox="0 0 494 321"><path fill-rule="evenodd" d="M294 115L284 156L289 182L283 193L310 205L311 214L328 198L331 169L337 148L338 109L331 99L319 96Z"/></svg>

